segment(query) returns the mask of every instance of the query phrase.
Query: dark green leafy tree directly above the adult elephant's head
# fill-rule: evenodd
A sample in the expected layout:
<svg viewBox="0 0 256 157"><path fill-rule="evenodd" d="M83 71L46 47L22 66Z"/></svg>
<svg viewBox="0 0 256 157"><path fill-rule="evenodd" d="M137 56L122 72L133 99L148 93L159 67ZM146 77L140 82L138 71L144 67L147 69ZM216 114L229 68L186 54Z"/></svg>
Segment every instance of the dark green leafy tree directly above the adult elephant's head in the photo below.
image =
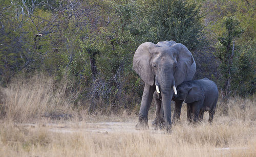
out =
<svg viewBox="0 0 256 157"><path fill-rule="evenodd" d="M194 2L180 0L141 1L141 16L147 24L147 41L175 40L188 49L202 46L202 15Z"/></svg>

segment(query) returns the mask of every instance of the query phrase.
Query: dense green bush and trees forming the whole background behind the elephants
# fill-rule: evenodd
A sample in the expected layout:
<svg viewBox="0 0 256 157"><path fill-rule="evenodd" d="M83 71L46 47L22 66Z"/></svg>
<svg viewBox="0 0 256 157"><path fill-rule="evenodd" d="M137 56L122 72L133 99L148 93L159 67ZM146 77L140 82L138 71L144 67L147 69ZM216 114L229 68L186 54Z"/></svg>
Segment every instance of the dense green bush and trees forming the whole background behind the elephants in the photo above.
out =
<svg viewBox="0 0 256 157"><path fill-rule="evenodd" d="M183 43L195 79L221 95L256 91L256 4L252 0L0 0L0 82L38 73L79 92L75 104L103 112L138 108L143 81L132 68L143 42Z"/></svg>

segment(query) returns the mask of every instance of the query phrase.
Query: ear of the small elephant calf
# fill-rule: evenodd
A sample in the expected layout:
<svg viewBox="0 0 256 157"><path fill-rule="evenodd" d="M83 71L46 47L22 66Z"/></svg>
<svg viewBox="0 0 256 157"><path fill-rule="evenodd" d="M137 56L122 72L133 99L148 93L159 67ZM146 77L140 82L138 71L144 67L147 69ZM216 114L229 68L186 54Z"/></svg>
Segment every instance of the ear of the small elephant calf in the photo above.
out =
<svg viewBox="0 0 256 157"><path fill-rule="evenodd" d="M185 98L185 103L192 103L195 101L203 100L204 99L204 92L198 86L191 86L188 90L187 97Z"/></svg>

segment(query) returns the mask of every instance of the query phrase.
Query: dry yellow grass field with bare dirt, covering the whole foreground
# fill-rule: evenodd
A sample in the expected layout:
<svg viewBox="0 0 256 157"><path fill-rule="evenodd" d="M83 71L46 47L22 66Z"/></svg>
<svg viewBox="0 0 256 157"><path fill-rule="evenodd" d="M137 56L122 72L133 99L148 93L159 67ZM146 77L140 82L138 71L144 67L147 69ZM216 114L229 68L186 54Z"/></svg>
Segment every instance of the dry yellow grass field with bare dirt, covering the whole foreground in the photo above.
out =
<svg viewBox="0 0 256 157"><path fill-rule="evenodd" d="M218 102L214 123L181 120L171 134L135 130L137 115L88 115L71 109L75 93L66 84L32 80L1 88L0 156L256 156L256 100L230 98L228 113ZM65 94L66 93L66 94Z"/></svg>

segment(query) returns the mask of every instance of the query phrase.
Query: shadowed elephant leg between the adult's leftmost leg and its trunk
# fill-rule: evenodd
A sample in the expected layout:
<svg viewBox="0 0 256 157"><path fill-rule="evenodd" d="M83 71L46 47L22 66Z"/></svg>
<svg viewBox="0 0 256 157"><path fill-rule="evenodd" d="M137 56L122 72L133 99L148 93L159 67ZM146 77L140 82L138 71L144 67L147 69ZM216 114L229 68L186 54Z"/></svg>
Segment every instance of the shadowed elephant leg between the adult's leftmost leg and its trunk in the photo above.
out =
<svg viewBox="0 0 256 157"><path fill-rule="evenodd" d="M163 107L161 106L161 95L155 91L153 98L156 103L156 118L152 122L152 125L155 126L155 129L158 129L161 128L164 123Z"/></svg>

